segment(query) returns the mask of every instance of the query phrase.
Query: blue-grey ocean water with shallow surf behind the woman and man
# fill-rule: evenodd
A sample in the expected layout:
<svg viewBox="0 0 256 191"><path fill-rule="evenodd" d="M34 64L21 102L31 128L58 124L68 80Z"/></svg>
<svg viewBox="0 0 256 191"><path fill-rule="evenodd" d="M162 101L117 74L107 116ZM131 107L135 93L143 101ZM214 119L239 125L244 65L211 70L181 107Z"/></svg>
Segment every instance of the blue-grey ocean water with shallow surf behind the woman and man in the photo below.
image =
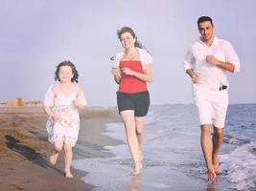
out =
<svg viewBox="0 0 256 191"><path fill-rule="evenodd" d="M229 105L220 151L218 180L207 181L194 105L151 106L143 140L144 162L132 177L123 123L107 123L105 136L124 144L105 146L113 158L77 159L74 168L88 172L82 178L95 191L256 190L256 104Z"/></svg>

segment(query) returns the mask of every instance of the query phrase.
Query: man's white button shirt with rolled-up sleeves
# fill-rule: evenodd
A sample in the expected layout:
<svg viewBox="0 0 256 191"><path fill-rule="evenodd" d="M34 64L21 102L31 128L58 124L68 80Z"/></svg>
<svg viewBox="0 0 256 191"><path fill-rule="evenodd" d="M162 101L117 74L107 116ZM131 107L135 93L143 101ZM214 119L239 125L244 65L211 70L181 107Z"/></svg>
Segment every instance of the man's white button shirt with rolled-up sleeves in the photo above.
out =
<svg viewBox="0 0 256 191"><path fill-rule="evenodd" d="M226 71L206 61L207 55L213 55L216 59L232 63L234 72L240 72L240 60L232 45L223 39L214 37L213 44L208 47L199 38L185 54L185 70L193 69L199 76L199 82L194 88L216 92L221 85L228 86Z"/></svg>

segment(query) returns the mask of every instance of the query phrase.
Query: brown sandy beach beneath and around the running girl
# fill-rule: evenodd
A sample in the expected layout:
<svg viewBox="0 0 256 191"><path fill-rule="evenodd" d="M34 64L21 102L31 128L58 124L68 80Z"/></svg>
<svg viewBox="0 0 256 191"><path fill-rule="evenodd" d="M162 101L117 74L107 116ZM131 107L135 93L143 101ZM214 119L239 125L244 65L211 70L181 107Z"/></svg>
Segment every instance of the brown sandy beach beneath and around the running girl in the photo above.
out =
<svg viewBox="0 0 256 191"><path fill-rule="evenodd" d="M63 155L57 166L48 162L53 146L47 140L46 115L40 107L0 108L0 190L92 190L81 180L84 172L72 169L74 179L63 176ZM119 140L107 138L106 122L120 121L113 108L87 108L81 112L80 138L73 159L111 157L105 145Z"/></svg>

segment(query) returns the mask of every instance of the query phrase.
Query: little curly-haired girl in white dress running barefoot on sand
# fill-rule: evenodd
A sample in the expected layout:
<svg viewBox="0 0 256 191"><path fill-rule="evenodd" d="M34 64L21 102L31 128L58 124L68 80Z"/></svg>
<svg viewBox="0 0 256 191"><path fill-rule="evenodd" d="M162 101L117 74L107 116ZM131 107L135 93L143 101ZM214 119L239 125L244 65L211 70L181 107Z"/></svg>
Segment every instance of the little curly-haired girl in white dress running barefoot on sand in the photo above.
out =
<svg viewBox="0 0 256 191"><path fill-rule="evenodd" d="M55 74L59 83L50 86L43 102L43 109L49 117L46 123L48 139L54 144L54 153L49 160L55 165L64 148L64 174L66 178L73 178L70 171L72 147L79 136L79 110L87 103L81 88L75 84L79 74L73 63L59 63Z"/></svg>

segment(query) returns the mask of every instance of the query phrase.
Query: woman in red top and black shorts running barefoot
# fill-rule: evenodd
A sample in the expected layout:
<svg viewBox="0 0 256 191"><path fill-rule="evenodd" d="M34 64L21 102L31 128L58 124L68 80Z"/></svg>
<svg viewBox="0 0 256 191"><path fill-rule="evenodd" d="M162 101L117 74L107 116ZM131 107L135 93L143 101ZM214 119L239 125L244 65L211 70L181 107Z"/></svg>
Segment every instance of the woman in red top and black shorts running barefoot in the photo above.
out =
<svg viewBox="0 0 256 191"><path fill-rule="evenodd" d="M144 117L150 107L147 82L152 81L152 57L142 49L131 28L123 27L117 35L124 51L116 54L112 74L119 84L118 110L126 127L128 147L134 162L132 175L136 176L142 168L142 132Z"/></svg>

